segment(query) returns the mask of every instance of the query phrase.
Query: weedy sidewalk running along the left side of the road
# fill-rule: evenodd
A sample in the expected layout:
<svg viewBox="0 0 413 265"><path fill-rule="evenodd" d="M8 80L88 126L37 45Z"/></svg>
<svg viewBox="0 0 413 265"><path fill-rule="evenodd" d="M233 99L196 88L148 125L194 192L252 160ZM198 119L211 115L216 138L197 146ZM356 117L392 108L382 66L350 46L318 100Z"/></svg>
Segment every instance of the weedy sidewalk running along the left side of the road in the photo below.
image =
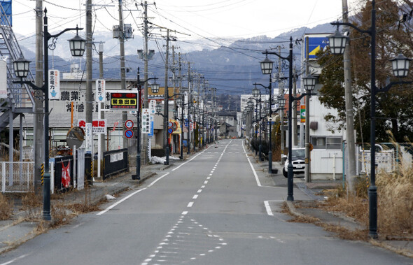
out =
<svg viewBox="0 0 413 265"><path fill-rule="evenodd" d="M184 160L187 156L184 156ZM136 174L136 168L130 168L129 172L121 173L119 176L109 178L104 181L95 181L89 189L73 190L66 194L59 194L57 199L52 199L52 204L59 202L64 205L84 204L85 195L87 196L88 203L94 206L102 201L106 201L106 195L115 195L121 192L125 192L127 189L133 189L141 185L142 182L151 178L152 176L161 173L162 171L169 169L174 164L181 163L181 160L170 159L169 165L164 164L152 164L141 166L141 179L132 180L132 174ZM87 192L87 194L85 194ZM20 204L20 205L19 205ZM28 213L28 211L21 210L22 203L15 200L15 213L13 213L12 220L0 221L0 254L7 252L15 248L16 246L29 241L31 238L38 236L41 232L36 231L40 221L27 222L28 215L34 215L34 213ZM36 208L36 216L43 208ZM67 211L67 210L66 210ZM47 222L50 227L56 222L52 215L52 221ZM48 227L46 227L48 229Z"/></svg>

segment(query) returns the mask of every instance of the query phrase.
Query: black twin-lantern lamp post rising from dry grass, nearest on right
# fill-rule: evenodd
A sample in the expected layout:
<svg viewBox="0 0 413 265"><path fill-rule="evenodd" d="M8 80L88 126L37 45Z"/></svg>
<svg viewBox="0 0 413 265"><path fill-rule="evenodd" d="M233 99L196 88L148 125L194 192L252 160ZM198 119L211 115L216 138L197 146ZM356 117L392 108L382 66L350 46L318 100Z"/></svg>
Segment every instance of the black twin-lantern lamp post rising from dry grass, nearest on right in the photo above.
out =
<svg viewBox="0 0 413 265"><path fill-rule="evenodd" d="M337 26L335 34L328 36L330 42L330 51L332 54L344 53L347 37L340 34L338 31L339 25L346 25L356 29L361 33L370 35L370 186L368 188L369 197L369 236L370 238L377 238L377 186L376 186L376 94L378 92L387 92L393 85L410 84L410 81L396 81L386 85L386 87L376 87L376 1L372 0L372 13L371 13L371 27L369 29L359 29L351 23L346 22L332 22L332 25ZM409 71L410 59L399 54L394 59L391 59L393 74L402 78L407 76Z"/></svg>

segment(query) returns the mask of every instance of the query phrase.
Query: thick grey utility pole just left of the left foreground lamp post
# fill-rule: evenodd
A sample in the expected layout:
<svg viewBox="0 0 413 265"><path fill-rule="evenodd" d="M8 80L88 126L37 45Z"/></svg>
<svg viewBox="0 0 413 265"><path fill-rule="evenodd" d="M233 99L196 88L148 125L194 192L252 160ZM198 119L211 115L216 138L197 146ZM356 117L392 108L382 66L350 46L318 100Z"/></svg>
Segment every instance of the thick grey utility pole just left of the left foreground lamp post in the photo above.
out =
<svg viewBox="0 0 413 265"><path fill-rule="evenodd" d="M43 0L36 0L36 87L43 86ZM40 90L34 90L34 192L41 193L43 157L43 102Z"/></svg>

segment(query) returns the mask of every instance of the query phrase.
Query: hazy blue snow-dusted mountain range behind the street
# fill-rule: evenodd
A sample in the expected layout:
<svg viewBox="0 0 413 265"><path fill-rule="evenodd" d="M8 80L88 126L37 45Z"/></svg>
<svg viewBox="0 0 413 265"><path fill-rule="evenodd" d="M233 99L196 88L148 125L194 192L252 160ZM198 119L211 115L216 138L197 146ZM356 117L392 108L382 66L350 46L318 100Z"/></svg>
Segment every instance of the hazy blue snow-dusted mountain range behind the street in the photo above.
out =
<svg viewBox="0 0 413 265"><path fill-rule="evenodd" d="M277 46L281 46L281 55L288 56L288 46L290 37L293 38L293 57L295 69L300 69L302 41L299 41L304 34L310 33L332 33L335 27L330 24L319 24L311 29L301 27L284 32L274 38L267 36L255 36L253 38L228 40L220 38L198 39L198 40L179 40L169 43L169 76L172 76L172 62L175 64L175 75L178 76L178 52L181 52L182 76L188 76L188 64L190 62L191 76L194 72L201 74L209 83L209 87L216 88L217 94L248 94L253 88L253 83L268 84L268 77L262 75L259 62L265 59L262 52L265 50L274 51ZM20 40L20 48L27 59L34 61L35 37L24 37L16 33ZM66 32L59 36L55 41L55 50L49 51L50 69L59 69L61 72L70 71L73 63L80 64L80 69L85 69L85 57L76 59L70 56L69 43L66 42L73 37L73 33ZM94 52L93 52L93 78L99 76L99 43L104 42L104 78L120 78L119 44L116 38L112 38L111 32L94 33ZM49 44L52 41L49 41ZM155 50L153 59L149 61L148 72L150 77L158 77L158 83L165 85L165 47L162 47L159 36L151 38L148 48ZM174 46L175 55L172 53ZM143 38L134 36L125 41L125 66L127 68L127 78L137 78L137 69L141 69L141 78L144 75L144 62L137 56L137 50L142 50ZM159 50L162 49L162 52ZM174 57L174 58L173 58ZM278 58L269 55L269 59L274 61L274 71L278 69ZM288 62L283 62L281 71L288 76ZM31 71L34 71L34 64L31 64ZM184 79L185 80L185 79ZM169 86L172 83L169 81ZM183 86L187 86L188 81L184 81ZM276 84L278 85L278 84ZM300 86L300 85L299 85Z"/></svg>

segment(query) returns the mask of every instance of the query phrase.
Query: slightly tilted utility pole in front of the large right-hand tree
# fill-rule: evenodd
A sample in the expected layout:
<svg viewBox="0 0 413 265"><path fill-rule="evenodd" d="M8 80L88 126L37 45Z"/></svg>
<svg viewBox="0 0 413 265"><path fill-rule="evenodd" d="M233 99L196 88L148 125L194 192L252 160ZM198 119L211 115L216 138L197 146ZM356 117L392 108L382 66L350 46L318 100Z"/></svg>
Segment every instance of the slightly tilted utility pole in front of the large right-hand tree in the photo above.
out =
<svg viewBox="0 0 413 265"><path fill-rule="evenodd" d="M342 0L343 22L349 22L349 10L347 0ZM349 31L349 26L343 27L344 31ZM350 47L346 43L344 49L344 95L346 100L346 140L349 157L349 172L347 173L347 184L350 192L354 193L354 180L356 179L356 144L354 143L354 117L353 117L353 94L351 93L351 64L350 64ZM344 159L344 158L343 158Z"/></svg>

